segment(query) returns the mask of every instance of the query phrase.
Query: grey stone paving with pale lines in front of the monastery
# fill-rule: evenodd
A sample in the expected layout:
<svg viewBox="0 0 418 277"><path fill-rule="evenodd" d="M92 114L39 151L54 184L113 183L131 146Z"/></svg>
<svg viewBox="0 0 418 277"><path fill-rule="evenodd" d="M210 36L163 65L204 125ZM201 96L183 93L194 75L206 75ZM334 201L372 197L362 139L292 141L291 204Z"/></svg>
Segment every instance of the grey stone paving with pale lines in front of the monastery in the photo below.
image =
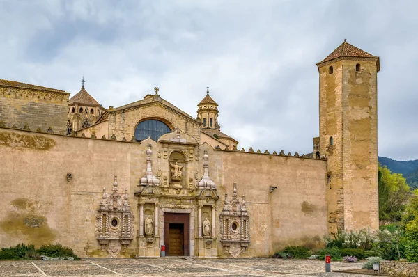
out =
<svg viewBox="0 0 418 277"><path fill-rule="evenodd" d="M362 263L332 262L333 270L360 269ZM325 273L325 263L317 260L247 259L86 259L54 261L2 261L0 276L367 276Z"/></svg>

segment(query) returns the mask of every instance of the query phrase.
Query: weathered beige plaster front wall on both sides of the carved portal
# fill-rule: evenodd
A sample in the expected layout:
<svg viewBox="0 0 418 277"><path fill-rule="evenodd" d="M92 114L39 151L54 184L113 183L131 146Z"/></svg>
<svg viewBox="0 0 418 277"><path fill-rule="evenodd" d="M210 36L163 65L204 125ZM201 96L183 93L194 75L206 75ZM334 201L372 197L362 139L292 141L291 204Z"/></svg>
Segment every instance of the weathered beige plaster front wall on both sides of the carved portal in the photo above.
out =
<svg viewBox="0 0 418 277"><path fill-rule="evenodd" d="M127 189L134 215L133 241L119 257L136 256L141 244L137 239L139 207L134 192L138 191L139 180L146 172L148 143L153 150L153 172L162 178L169 174L169 168L162 162L165 150L161 143L131 143L0 128L3 159L0 247L22 242L36 246L60 242L72 247L80 257L104 257L106 254L95 237L95 216L102 189L111 191L114 175L118 175L119 191L123 193ZM190 164L194 166L190 171L195 173L196 182L203 175L205 150L209 155L209 176L221 196L215 214L217 234L224 193L229 192L231 196L233 182L236 182L239 196L246 196L251 244L240 256L268 256L288 244L321 244L327 232L325 160L213 150L204 143L196 146L197 161ZM192 159L193 156L187 157ZM71 180L67 179L68 173L72 174ZM270 192L270 187L277 189ZM167 193L176 202L181 197L192 196L193 192L187 189L177 194L169 189ZM173 207L177 207L174 202ZM197 217L197 209L192 213ZM219 256L230 257L219 242L217 248Z"/></svg>

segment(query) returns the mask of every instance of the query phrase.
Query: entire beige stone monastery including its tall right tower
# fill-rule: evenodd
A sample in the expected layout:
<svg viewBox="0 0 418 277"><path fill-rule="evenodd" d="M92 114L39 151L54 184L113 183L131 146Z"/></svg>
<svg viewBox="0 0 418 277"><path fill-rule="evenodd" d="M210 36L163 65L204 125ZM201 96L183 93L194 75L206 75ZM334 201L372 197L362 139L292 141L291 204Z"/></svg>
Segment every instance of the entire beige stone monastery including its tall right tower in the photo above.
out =
<svg viewBox="0 0 418 277"><path fill-rule="evenodd" d="M196 118L155 88L104 109L84 86L0 80L0 247L80 257L259 257L378 229L378 56L344 41L317 64L308 155L238 150L209 90Z"/></svg>

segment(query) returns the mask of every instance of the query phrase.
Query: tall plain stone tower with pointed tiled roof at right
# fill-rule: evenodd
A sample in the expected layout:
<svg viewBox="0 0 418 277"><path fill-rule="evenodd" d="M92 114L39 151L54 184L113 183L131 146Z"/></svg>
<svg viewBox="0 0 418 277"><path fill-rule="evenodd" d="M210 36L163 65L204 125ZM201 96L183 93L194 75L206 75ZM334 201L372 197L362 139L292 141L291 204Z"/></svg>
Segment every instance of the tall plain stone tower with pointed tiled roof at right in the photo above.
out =
<svg viewBox="0 0 418 277"><path fill-rule="evenodd" d="M316 65L319 155L328 161L328 230L378 230L379 57L344 40Z"/></svg>

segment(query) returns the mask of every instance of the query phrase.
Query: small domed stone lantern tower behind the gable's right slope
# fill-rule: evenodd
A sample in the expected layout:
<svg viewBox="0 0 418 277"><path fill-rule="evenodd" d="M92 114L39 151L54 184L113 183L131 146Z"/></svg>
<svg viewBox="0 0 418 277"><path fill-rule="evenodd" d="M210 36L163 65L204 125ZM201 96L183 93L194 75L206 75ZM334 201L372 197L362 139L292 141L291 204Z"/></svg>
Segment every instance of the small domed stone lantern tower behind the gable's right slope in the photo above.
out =
<svg viewBox="0 0 418 277"><path fill-rule="evenodd" d="M197 105L197 120L201 122L201 129L219 129L218 124L218 104L209 96L209 87L206 96Z"/></svg>

